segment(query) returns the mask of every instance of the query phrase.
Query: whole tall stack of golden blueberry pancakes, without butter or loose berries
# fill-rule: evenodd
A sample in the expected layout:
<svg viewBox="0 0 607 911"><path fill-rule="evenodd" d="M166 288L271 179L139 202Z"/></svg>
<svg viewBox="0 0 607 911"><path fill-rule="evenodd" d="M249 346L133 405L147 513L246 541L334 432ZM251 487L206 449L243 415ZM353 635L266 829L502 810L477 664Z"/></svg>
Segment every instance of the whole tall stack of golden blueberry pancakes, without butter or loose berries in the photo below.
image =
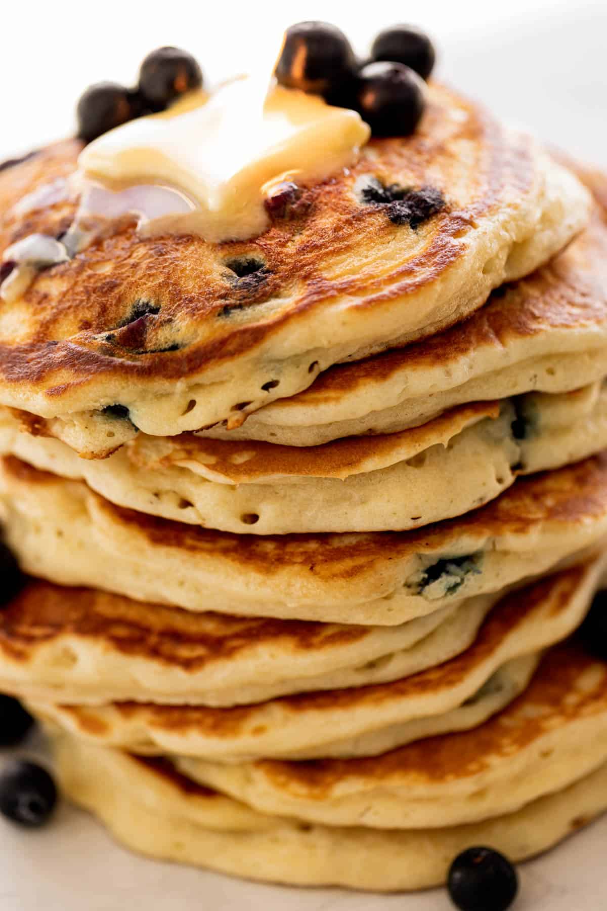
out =
<svg viewBox="0 0 607 911"><path fill-rule="evenodd" d="M0 306L0 688L138 851L420 888L607 808L607 179L430 91L263 236L123 226ZM2 172L0 250L79 148Z"/></svg>

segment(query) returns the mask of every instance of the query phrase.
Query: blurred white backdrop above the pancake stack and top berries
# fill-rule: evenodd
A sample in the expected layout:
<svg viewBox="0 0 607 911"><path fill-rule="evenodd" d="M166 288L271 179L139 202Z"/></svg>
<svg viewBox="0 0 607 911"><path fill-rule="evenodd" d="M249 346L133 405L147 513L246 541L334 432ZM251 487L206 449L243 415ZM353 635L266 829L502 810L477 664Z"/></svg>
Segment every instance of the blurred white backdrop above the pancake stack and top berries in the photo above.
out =
<svg viewBox="0 0 607 911"><path fill-rule="evenodd" d="M436 39L437 76L503 118L607 166L605 0L282 0L201 3L97 0L2 5L0 159L73 129L91 82L131 83L147 51L183 46L207 83L272 66L284 28L301 19L339 25L364 55L383 26L410 22Z"/></svg>

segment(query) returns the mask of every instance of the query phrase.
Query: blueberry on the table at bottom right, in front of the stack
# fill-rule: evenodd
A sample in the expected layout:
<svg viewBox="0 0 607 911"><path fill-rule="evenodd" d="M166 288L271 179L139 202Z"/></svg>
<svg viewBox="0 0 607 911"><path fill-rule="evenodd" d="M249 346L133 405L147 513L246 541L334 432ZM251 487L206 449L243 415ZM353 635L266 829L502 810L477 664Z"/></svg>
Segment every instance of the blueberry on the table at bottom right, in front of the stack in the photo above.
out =
<svg viewBox="0 0 607 911"><path fill-rule="evenodd" d="M519 877L498 851L474 847L453 861L448 887L460 911L506 911L519 891Z"/></svg>

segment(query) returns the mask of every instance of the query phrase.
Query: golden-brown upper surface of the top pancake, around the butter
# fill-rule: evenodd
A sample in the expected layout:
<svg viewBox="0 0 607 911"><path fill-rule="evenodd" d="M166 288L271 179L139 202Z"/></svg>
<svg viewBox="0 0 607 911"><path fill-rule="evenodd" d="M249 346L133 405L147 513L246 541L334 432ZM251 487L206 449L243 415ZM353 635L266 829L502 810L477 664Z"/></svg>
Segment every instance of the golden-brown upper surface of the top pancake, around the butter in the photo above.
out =
<svg viewBox="0 0 607 911"><path fill-rule="evenodd" d="M481 109L446 89L435 87L432 97L413 137L373 140L348 179L308 189L304 220L275 225L254 241L215 247L187 236L141 240L131 226L40 275L25 294L20 339L0 339L4 383L60 399L101 374L137 384L175 381L233 363L337 296L348 295L359 313L373 312L436 281L466 252L468 231L499 209L504 185L524 196L537 175L528 139L506 139ZM453 110L460 118L448 116ZM66 230L73 203L22 216L12 206L69 174L79 148L76 140L60 143L0 173L0 252L31 232ZM462 148L473 159L464 180ZM431 175L448 200L433 220L408 230L399 264L388 274L378 253L402 237L402 228L378 207L360 204L352 187L365 175L412 187ZM354 273L343 265L353 251ZM238 280L225 264L238 256L258 258L266 270ZM127 325L142 301L160 312Z"/></svg>

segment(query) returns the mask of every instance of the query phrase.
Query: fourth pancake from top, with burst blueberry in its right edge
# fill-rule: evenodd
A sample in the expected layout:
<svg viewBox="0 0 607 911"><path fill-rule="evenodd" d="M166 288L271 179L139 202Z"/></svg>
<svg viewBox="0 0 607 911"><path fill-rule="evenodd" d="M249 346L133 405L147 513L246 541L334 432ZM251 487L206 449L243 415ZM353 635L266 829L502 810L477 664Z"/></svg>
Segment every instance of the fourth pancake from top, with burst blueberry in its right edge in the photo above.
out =
<svg viewBox="0 0 607 911"><path fill-rule="evenodd" d="M467 516L402 533L228 535L113 506L13 457L0 462L0 515L25 571L59 585L195 611L399 626L596 547L607 536L607 455L520 478Z"/></svg>

